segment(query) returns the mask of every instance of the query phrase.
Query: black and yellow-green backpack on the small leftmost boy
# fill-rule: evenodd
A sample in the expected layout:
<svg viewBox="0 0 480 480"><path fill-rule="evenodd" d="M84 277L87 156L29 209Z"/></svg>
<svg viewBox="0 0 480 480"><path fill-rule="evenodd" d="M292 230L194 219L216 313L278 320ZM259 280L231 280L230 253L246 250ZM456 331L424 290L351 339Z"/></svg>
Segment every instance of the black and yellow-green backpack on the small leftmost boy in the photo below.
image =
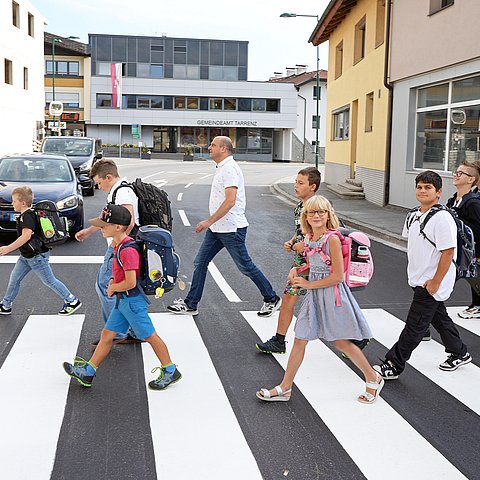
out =
<svg viewBox="0 0 480 480"><path fill-rule="evenodd" d="M36 233L45 246L58 245L68 240L68 221L60 216L54 202L42 200L37 202L32 210L37 217Z"/></svg>

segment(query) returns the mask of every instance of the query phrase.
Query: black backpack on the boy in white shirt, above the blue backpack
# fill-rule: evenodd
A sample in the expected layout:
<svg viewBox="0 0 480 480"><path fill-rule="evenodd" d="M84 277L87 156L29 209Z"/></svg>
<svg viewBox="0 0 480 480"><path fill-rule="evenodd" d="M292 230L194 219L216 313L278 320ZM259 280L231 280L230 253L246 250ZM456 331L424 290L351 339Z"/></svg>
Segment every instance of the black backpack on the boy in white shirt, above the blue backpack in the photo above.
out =
<svg viewBox="0 0 480 480"><path fill-rule="evenodd" d="M157 225L169 232L172 231L172 209L165 190L137 178L133 183L122 182L112 194L112 203L115 203L117 191L122 187L131 188L138 198L140 226Z"/></svg>

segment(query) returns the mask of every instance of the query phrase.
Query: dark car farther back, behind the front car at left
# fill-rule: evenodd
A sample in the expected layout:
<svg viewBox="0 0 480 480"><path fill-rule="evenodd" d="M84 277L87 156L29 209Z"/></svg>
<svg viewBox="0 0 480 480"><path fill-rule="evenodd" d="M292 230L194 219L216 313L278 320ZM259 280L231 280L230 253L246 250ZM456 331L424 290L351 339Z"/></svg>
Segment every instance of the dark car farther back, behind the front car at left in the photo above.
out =
<svg viewBox="0 0 480 480"><path fill-rule="evenodd" d="M92 165L103 156L102 141L89 137L46 137L42 152L63 154L73 165L84 195L95 193L95 182L90 178Z"/></svg>

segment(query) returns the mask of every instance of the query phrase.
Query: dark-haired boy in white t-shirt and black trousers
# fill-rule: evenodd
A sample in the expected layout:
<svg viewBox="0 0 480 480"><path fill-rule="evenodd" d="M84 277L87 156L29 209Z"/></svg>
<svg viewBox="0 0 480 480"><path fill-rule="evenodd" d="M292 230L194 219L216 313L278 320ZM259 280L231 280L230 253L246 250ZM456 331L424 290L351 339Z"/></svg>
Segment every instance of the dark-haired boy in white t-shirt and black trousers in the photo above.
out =
<svg viewBox="0 0 480 480"><path fill-rule="evenodd" d="M408 284L414 291L413 300L397 343L387 352L382 364L373 366L385 380L395 380L403 372L430 324L440 334L449 354L439 365L441 370L451 372L472 361L443 303L450 297L455 284L453 259L456 256L457 227L446 210L429 215L442 194L442 178L428 170L417 175L415 184L420 207L407 216L403 229L403 236L408 238L407 274Z"/></svg>

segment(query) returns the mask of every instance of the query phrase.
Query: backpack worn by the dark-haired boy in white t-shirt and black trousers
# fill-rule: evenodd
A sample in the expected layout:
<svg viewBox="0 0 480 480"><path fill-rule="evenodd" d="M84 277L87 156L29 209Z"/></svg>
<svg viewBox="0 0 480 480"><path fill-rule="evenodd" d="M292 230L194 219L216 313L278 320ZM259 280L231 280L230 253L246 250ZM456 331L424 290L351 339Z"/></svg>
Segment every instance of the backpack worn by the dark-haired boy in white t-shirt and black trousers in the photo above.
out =
<svg viewBox="0 0 480 480"><path fill-rule="evenodd" d="M409 217L407 220L407 230L410 228L412 223L415 221L415 212L418 211L420 207L414 208L410 210ZM432 240L430 240L424 232L425 225L427 222L437 213L441 211L446 211L450 213L453 220L455 221L455 225L457 227L457 258L453 260L455 264L455 268L457 269L457 280L459 278L474 278L477 274L477 263L475 261L475 239L473 237L472 229L464 223L457 215L455 210L451 208L445 207L440 203L434 205L430 211L428 212L425 219L420 223L420 233L427 240L431 243L435 248L435 245Z"/></svg>

